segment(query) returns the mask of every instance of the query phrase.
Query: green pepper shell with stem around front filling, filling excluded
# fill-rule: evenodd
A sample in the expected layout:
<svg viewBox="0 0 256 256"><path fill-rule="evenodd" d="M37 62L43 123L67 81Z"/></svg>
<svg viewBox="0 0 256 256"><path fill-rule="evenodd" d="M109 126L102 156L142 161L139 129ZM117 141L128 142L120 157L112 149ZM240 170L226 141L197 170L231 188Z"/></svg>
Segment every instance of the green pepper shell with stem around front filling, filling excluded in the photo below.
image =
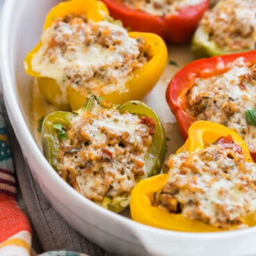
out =
<svg viewBox="0 0 256 256"><path fill-rule="evenodd" d="M157 114L154 113L149 106L140 101L129 101L118 106L109 104L109 102L107 102L107 104L105 102L104 104L104 101L97 98L95 95L88 95L84 106L77 111L55 111L45 117L42 123L42 149L45 158L49 161L51 166L58 171L61 139L59 130L56 129L56 125L61 125L65 130L70 129L72 126L72 119L77 115L81 115L85 111L97 114L101 108L118 109L120 113L128 111L129 113L134 113L139 116L147 116L154 120L156 123L155 133L152 136L152 143L145 155L145 173L147 175L143 178L159 174L166 157L166 134ZM102 202L95 202L106 209L119 212L129 205L129 198L130 194L124 193L115 198L105 196Z"/></svg>

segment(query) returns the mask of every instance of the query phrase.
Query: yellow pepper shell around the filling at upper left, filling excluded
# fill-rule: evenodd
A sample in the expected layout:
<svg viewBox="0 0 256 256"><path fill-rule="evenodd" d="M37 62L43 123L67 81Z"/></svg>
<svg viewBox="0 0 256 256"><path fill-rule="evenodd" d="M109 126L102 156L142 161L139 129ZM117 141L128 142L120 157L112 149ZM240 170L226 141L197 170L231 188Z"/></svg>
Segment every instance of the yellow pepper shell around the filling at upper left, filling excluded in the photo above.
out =
<svg viewBox="0 0 256 256"><path fill-rule="evenodd" d="M88 19L98 22L109 17L109 10L101 1L65 1L50 10L45 19L44 29L49 28L56 18L65 17L65 15L68 14L84 14ZM145 47L150 56L150 60L131 73L131 79L125 84L127 90L120 92L117 88L108 94L104 94L103 91L99 92L100 96L104 97L104 99L109 102L113 102L113 104L122 104L131 99L142 99L145 97L157 83L166 67L168 51L165 42L158 35L153 33L130 32L129 36L131 38L141 37L145 39ZM59 104L59 100L57 99L61 97L61 88L58 83L56 83L54 79L42 77L41 74L33 70L32 61L41 46L42 42L39 42L38 45L27 54L24 61L26 73L32 77L38 78L40 92L48 102L59 106L61 109L68 109L70 106L72 110L79 109L83 106L87 95L82 95L72 86L69 86L67 87L67 102Z"/></svg>

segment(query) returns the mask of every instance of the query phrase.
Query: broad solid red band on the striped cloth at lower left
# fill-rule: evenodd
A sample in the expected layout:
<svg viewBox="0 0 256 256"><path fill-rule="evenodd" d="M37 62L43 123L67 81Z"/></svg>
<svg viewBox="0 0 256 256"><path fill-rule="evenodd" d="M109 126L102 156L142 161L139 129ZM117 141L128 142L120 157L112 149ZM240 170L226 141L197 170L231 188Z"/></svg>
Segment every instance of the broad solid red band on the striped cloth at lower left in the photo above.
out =
<svg viewBox="0 0 256 256"><path fill-rule="evenodd" d="M1 200L0 195L0 243L22 230L31 232L29 221L17 203L13 200Z"/></svg>

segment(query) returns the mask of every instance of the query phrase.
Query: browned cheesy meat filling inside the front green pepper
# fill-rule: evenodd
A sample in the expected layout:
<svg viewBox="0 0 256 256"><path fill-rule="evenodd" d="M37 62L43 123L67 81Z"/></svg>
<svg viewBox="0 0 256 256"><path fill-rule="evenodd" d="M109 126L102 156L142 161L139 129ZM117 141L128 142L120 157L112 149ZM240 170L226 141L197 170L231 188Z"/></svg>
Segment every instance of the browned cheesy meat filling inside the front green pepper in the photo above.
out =
<svg viewBox="0 0 256 256"><path fill-rule="evenodd" d="M90 200L102 202L131 192L148 175L145 155L155 122L131 113L84 112L61 143L59 174Z"/></svg>

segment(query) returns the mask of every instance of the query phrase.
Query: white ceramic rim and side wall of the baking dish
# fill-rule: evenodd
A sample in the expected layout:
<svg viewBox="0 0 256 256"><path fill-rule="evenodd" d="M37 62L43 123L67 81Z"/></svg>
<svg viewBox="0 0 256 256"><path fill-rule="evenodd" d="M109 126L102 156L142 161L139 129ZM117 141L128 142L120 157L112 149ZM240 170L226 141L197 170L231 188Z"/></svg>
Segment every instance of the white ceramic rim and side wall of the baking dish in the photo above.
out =
<svg viewBox="0 0 256 256"><path fill-rule="evenodd" d="M45 14L57 2L6 0L0 28L1 76L8 115L33 176L57 211L81 234L116 255L256 255L256 227L211 234L147 227L83 198L54 172L29 131L31 79L24 74L23 59L40 37Z"/></svg>

